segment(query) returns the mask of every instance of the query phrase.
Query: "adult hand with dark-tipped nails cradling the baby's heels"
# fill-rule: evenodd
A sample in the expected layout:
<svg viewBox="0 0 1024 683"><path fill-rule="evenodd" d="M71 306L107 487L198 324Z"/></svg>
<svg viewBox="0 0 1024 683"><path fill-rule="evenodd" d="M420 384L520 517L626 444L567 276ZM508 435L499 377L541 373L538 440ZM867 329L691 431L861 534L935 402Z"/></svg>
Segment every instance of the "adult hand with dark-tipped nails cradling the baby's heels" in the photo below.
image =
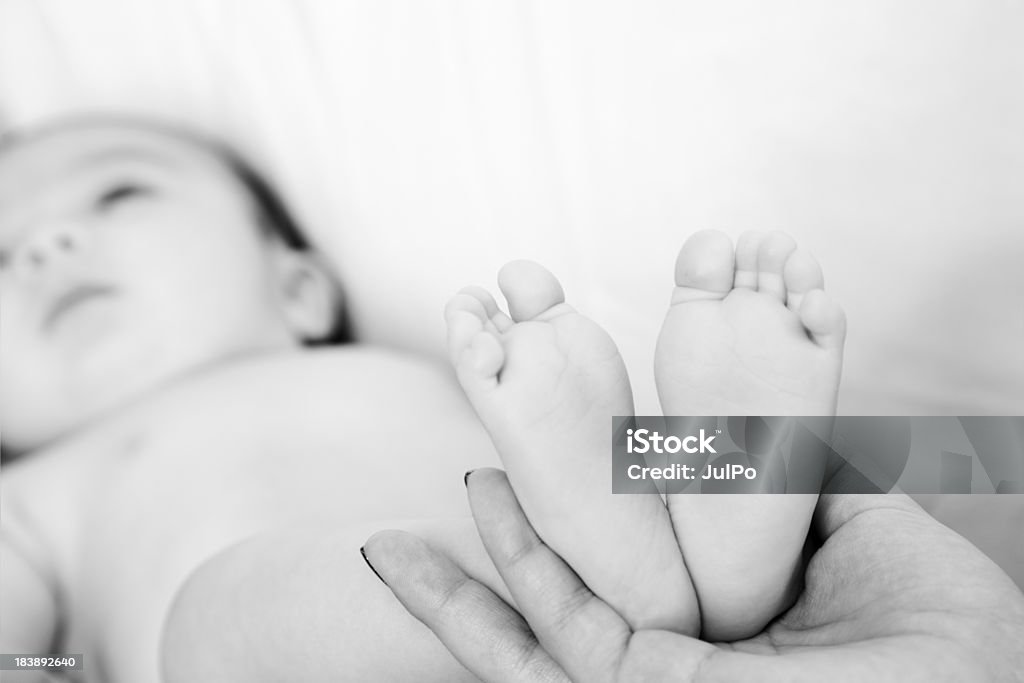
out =
<svg viewBox="0 0 1024 683"><path fill-rule="evenodd" d="M488 683L1024 681L1024 594L903 497L822 497L824 543L797 604L754 638L712 644L631 632L538 538L503 472L477 470L468 484L518 610L409 533L380 532L366 552L406 608Z"/></svg>

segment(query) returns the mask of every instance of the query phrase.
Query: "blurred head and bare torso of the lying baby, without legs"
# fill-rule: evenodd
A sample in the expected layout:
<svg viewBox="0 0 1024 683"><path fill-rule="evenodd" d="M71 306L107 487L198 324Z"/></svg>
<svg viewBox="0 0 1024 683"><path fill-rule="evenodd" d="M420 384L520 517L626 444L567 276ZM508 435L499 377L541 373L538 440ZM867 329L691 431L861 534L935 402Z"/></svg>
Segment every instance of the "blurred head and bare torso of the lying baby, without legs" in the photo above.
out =
<svg viewBox="0 0 1024 683"><path fill-rule="evenodd" d="M4 141L0 420L20 457L0 494L0 651L157 681L172 599L217 552L308 520L465 515L447 473L496 461L458 386L307 348L339 295L303 247L258 176L197 136L93 119Z"/></svg>

